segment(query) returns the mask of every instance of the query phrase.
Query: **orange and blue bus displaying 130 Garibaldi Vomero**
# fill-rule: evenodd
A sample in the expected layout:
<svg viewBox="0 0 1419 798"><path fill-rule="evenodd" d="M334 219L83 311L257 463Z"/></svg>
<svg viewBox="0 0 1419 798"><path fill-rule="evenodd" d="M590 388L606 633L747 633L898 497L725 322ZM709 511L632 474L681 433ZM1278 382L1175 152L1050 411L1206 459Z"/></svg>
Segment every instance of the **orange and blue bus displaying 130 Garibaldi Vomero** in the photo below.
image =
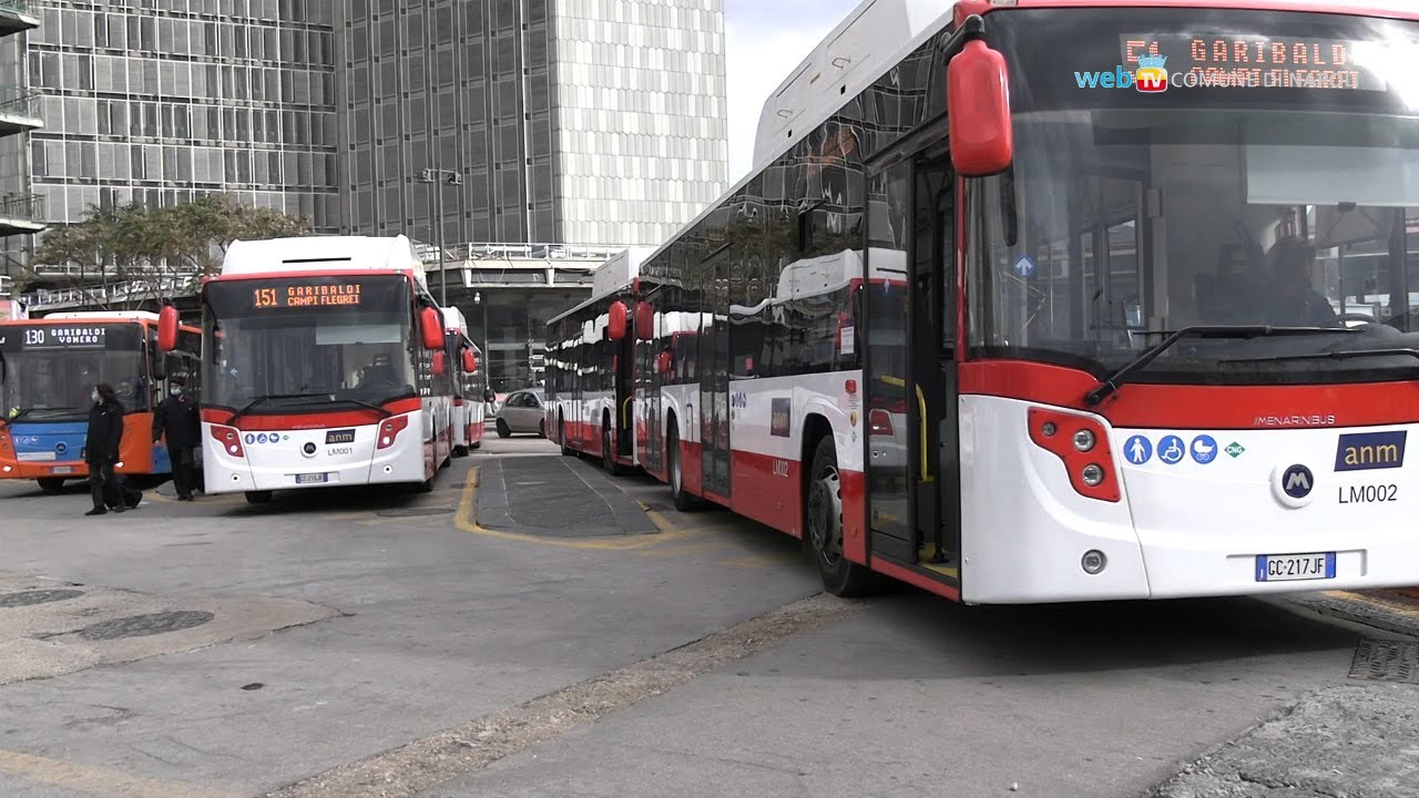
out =
<svg viewBox="0 0 1419 798"><path fill-rule="evenodd" d="M106 382L123 403L118 473L156 484L172 473L167 449L152 442L153 409L169 375L196 379L201 334L177 331L172 351L158 351L158 314L61 312L0 321L0 479L35 480L57 493L88 477L84 440L94 385Z"/></svg>

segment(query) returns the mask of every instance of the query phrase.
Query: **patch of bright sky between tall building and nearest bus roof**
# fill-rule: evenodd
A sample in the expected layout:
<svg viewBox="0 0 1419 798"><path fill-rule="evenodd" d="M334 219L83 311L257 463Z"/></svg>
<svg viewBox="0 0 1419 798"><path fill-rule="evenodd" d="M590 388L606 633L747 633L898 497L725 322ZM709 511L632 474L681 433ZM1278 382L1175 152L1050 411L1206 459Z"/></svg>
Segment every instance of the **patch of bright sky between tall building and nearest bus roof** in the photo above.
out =
<svg viewBox="0 0 1419 798"><path fill-rule="evenodd" d="M860 0L725 0L729 185L753 162L759 109Z"/></svg>

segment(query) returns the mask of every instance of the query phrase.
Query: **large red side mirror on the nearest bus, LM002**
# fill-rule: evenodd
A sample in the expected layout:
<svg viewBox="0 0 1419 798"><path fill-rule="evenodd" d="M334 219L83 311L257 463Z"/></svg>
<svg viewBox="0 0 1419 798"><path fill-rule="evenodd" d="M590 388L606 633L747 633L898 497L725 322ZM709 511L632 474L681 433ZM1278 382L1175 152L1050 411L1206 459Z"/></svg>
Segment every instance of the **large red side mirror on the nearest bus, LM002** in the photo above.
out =
<svg viewBox="0 0 1419 798"><path fill-rule="evenodd" d="M989 177L1010 166L1015 132L1005 55L968 41L946 67L951 163L962 177Z"/></svg>

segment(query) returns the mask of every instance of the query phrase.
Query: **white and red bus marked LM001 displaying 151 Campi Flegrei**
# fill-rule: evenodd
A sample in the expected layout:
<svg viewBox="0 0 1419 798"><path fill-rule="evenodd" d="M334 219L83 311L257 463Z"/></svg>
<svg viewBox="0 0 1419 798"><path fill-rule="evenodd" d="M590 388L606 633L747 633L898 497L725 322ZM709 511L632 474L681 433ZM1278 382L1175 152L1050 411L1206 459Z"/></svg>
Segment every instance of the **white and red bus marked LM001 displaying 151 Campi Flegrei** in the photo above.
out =
<svg viewBox="0 0 1419 798"><path fill-rule="evenodd" d="M433 490L453 450L454 369L409 239L234 241L201 307L207 493ZM176 321L165 308L165 348Z"/></svg>

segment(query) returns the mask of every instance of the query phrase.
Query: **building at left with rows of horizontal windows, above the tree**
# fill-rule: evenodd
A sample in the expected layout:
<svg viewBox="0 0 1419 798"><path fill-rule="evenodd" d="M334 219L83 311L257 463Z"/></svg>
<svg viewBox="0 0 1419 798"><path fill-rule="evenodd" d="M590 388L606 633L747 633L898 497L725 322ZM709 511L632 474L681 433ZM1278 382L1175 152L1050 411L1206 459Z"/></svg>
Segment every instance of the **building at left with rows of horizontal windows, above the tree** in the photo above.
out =
<svg viewBox="0 0 1419 798"><path fill-rule="evenodd" d="M45 222L230 192L341 229L331 3L65 0L14 37L43 131L7 183Z"/></svg>

